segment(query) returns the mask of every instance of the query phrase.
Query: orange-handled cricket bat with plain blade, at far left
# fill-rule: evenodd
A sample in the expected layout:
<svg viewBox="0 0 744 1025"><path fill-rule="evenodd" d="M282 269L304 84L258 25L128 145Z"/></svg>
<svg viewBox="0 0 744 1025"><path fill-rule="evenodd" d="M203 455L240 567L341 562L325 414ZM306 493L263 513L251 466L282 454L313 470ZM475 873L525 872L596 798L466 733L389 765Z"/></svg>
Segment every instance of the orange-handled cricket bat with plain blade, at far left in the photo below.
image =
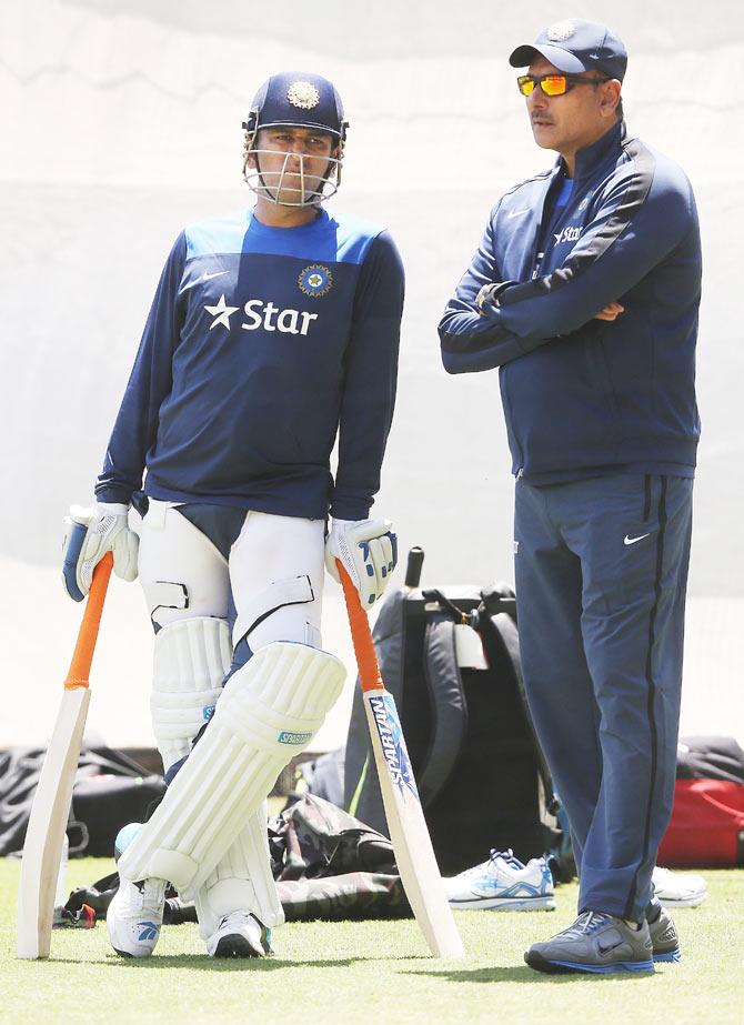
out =
<svg viewBox="0 0 744 1025"><path fill-rule="evenodd" d="M31 806L16 926L17 954L22 958L49 957L62 842L90 704L88 676L112 565L113 556L108 552L93 573L54 732Z"/></svg>

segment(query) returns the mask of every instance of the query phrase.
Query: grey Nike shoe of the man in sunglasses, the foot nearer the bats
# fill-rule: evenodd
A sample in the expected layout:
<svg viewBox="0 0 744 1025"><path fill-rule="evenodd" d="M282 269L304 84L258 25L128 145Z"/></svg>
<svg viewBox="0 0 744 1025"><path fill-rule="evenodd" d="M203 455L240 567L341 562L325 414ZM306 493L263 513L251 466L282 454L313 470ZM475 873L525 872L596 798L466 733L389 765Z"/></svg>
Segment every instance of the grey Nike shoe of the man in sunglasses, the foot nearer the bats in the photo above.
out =
<svg viewBox="0 0 744 1025"><path fill-rule="evenodd" d="M585 911L545 943L533 943L524 955L531 968L551 974L653 972L649 924L639 928L604 912Z"/></svg>

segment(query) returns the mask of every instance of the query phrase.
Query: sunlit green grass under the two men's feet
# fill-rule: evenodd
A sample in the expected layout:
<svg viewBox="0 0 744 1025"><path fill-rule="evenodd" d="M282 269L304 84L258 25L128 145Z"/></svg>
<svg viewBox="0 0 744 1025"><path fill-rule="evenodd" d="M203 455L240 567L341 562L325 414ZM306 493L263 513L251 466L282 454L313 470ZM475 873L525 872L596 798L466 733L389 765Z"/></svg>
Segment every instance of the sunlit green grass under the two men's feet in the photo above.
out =
<svg viewBox="0 0 744 1025"><path fill-rule="evenodd" d="M110 871L73 861L70 886ZM706 872L711 895L676 912L684 962L655 975L549 976L522 961L530 943L574 916L575 885L552 913L459 912L462 962L434 961L413 921L295 923L274 936L277 956L207 957L195 925L168 926L149 961L125 961L105 925L54 931L48 962L16 959L19 863L0 858L0 1019L13 1023L391 1023L500 1025L742 1025L744 871Z"/></svg>

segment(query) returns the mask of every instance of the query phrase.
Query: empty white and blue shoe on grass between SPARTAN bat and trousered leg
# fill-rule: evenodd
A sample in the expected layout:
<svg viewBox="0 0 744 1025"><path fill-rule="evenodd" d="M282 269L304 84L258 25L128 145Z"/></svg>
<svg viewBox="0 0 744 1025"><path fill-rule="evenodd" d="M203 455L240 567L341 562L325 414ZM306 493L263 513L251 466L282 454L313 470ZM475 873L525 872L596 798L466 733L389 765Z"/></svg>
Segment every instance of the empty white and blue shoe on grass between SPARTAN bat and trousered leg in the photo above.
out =
<svg viewBox="0 0 744 1025"><path fill-rule="evenodd" d="M443 880L450 907L466 911L552 911L553 876L544 857L526 865L511 851L492 851L482 865Z"/></svg>

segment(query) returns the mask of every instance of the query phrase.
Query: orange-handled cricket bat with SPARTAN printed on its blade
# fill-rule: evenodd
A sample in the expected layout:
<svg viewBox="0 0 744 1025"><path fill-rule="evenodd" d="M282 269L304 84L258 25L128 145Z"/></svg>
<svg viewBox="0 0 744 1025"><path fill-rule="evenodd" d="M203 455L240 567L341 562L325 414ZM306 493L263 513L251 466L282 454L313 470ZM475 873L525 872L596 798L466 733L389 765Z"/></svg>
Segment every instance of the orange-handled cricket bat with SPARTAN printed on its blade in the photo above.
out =
<svg viewBox="0 0 744 1025"><path fill-rule="evenodd" d="M432 954L464 957L465 949L444 894L395 701L382 682L370 624L356 587L340 560L336 565L346 600L382 802L403 888Z"/></svg>

